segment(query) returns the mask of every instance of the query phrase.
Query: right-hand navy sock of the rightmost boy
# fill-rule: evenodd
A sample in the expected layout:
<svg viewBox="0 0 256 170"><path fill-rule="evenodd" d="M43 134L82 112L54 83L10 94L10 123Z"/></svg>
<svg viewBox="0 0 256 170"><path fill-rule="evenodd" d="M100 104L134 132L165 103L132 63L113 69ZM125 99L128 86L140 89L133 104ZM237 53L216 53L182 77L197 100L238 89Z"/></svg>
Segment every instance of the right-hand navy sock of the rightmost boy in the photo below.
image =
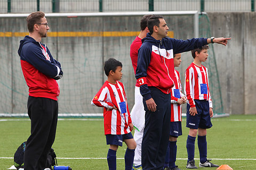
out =
<svg viewBox="0 0 256 170"><path fill-rule="evenodd" d="M207 142L206 135L205 136L197 136L197 144L200 155L200 162L203 164L207 160Z"/></svg>

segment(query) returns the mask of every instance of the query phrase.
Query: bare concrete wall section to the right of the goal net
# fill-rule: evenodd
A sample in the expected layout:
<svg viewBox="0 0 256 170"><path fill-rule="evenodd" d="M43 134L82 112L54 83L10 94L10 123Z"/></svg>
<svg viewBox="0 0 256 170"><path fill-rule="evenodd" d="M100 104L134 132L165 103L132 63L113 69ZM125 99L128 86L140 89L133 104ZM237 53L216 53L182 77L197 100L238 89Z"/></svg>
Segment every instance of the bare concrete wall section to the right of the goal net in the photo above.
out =
<svg viewBox="0 0 256 170"><path fill-rule="evenodd" d="M255 114L256 13L208 13L215 37L232 37L228 46L214 45L226 113Z"/></svg>

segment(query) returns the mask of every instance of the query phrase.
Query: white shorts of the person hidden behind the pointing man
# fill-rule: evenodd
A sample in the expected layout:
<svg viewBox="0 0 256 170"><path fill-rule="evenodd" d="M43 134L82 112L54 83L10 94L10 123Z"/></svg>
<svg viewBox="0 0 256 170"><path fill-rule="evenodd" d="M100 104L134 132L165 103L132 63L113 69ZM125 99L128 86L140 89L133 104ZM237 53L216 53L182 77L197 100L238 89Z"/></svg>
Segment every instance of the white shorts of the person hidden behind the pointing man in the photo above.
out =
<svg viewBox="0 0 256 170"><path fill-rule="evenodd" d="M145 111L143 106L143 97L140 94L140 88L135 87L134 106L131 111L132 124L141 131L145 126Z"/></svg>

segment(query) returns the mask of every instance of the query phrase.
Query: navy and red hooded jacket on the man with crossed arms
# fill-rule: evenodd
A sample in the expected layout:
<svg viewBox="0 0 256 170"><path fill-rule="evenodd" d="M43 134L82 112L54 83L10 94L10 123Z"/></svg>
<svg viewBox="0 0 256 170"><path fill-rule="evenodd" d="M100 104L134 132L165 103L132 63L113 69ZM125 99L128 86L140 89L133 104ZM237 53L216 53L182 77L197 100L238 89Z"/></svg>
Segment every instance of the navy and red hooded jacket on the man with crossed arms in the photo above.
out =
<svg viewBox="0 0 256 170"><path fill-rule="evenodd" d="M50 50L34 38L26 36L20 40L18 54L29 87L29 96L57 100L60 90L54 78L63 72L61 64L53 59Z"/></svg>

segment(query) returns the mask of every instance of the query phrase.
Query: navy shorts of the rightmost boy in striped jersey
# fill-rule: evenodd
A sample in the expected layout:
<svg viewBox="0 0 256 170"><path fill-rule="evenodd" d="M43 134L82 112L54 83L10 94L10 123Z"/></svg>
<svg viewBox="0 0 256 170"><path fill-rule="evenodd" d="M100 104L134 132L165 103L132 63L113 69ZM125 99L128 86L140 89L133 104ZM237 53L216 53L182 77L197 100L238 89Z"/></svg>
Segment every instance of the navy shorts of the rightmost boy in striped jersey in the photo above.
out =
<svg viewBox="0 0 256 170"><path fill-rule="evenodd" d="M190 105L187 104L187 128L190 129L209 129L212 127L209 101L207 100L194 100L196 104L197 114L191 116L189 114Z"/></svg>

